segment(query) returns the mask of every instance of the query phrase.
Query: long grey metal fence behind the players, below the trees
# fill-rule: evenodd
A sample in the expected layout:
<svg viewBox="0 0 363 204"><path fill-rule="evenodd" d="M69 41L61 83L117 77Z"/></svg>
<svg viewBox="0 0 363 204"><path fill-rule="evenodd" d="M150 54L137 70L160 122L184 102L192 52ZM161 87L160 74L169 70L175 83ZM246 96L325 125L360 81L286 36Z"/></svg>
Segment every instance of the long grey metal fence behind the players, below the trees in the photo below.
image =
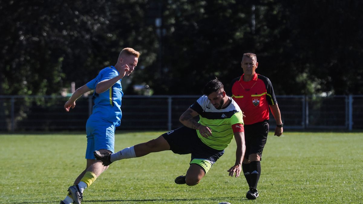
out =
<svg viewBox="0 0 363 204"><path fill-rule="evenodd" d="M180 115L200 96L124 96L118 129L171 130ZM85 130L92 113L92 96L81 97L67 113L69 97L0 96L0 131ZM363 95L277 96L285 129L363 129ZM270 126L275 121L270 114Z"/></svg>

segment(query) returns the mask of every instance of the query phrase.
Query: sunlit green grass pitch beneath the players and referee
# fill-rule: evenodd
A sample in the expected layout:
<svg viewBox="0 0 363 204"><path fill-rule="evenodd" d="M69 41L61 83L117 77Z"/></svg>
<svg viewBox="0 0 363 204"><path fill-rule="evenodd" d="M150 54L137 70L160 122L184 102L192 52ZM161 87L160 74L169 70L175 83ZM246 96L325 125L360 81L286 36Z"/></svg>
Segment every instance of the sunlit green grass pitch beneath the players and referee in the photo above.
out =
<svg viewBox="0 0 363 204"><path fill-rule="evenodd" d="M163 132L118 131L115 150ZM0 203L59 203L86 166L82 134L0 134ZM228 176L236 144L200 184L174 183L190 155L171 151L111 164L83 193L82 203L363 203L363 133L286 132L269 134L261 162L257 200L245 198L243 175Z"/></svg>

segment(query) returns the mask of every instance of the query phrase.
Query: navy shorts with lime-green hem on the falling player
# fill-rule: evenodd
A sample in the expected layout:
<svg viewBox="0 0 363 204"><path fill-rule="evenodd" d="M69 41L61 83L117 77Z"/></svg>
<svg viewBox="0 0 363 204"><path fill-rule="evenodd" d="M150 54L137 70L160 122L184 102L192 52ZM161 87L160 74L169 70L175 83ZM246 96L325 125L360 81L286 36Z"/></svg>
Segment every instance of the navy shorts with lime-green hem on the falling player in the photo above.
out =
<svg viewBox="0 0 363 204"><path fill-rule="evenodd" d="M198 138L196 130L185 126L166 132L163 137L175 154L192 154L190 164L200 165L205 173L224 154L224 150L216 150L204 144Z"/></svg>

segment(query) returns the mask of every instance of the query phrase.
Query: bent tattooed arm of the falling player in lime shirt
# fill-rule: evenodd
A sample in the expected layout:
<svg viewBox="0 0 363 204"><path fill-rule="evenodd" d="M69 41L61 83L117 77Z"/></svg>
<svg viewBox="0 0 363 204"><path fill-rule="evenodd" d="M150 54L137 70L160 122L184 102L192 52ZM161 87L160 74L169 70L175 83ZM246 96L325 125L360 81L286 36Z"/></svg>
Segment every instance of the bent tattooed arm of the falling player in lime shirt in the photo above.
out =
<svg viewBox="0 0 363 204"><path fill-rule="evenodd" d="M197 121L195 121L194 117L199 115L195 110L188 108L183 114L181 114L179 121L186 127L199 130L199 133L207 138L212 135L212 131L209 127L203 126Z"/></svg>

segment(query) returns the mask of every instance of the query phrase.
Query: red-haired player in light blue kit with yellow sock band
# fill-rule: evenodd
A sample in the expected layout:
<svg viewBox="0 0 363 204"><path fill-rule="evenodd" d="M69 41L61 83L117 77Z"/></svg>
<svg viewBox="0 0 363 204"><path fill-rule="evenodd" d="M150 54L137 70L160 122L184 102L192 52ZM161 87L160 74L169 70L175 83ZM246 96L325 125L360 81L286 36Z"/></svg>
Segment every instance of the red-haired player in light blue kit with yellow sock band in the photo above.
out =
<svg viewBox="0 0 363 204"><path fill-rule="evenodd" d="M103 166L96 160L93 152L114 153L115 127L121 123L121 98L123 96L121 79L129 76L135 69L140 53L132 48L123 49L115 66L102 69L98 76L77 89L64 108L68 112L76 106L77 98L82 94L95 90L93 93L93 111L86 123L87 149L86 169L68 188L68 195L60 204L76 203L82 201L83 191L89 187L108 166Z"/></svg>

